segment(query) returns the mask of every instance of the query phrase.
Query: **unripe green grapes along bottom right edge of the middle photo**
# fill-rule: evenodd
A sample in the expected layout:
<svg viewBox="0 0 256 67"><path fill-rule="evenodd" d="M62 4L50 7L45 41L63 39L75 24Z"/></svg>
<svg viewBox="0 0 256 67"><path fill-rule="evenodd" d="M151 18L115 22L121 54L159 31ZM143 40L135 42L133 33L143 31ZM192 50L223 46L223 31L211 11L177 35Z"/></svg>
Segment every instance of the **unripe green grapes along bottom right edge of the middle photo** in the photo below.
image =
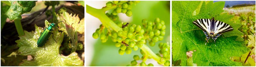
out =
<svg viewBox="0 0 256 67"><path fill-rule="evenodd" d="M159 60L160 63L158 64L161 64L163 63L164 66L170 66L170 44L168 43L159 43L158 44L159 48L161 49L159 51L160 54L162 54L163 56L161 56L159 53L157 53L156 55L161 57L161 59ZM127 66L136 66L136 65L139 65L139 66L154 66L152 63L149 63L148 65L145 63L145 62L141 62L141 63L138 63L137 61L138 60L143 60L145 58L145 53L140 50L140 53L141 53L141 58L140 56L138 55L134 55L133 56L133 61L131 61L131 64L127 65ZM148 56L148 59L151 59L152 57Z"/></svg>

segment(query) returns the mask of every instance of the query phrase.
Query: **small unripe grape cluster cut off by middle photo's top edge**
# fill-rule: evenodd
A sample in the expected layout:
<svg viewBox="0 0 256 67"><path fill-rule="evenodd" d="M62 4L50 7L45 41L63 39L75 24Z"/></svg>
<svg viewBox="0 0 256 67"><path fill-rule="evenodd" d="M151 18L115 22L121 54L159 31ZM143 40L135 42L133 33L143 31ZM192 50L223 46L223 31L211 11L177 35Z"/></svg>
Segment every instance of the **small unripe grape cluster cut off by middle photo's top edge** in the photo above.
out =
<svg viewBox="0 0 256 67"><path fill-rule="evenodd" d="M140 1L113 1L106 3L107 7L112 7L116 5L116 8L113 10L111 15L117 15L118 13L125 13L127 16L132 16L132 5L139 3Z"/></svg>

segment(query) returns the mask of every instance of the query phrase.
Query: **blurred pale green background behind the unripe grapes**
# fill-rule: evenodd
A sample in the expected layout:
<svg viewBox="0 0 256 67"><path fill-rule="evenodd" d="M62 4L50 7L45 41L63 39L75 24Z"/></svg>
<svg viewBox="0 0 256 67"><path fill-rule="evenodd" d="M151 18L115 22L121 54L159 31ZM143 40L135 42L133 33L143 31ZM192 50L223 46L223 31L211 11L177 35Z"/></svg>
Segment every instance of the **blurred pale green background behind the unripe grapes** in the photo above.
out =
<svg viewBox="0 0 256 67"><path fill-rule="evenodd" d="M107 1L104 1L104 3L106 4ZM104 3L100 3L100 4L104 4ZM92 6L90 4L88 5ZM97 4L94 4L94 5L97 5ZM141 24L142 19L147 19L148 21L154 21L155 18L160 18L160 20L164 20L165 26L166 26L166 33L164 35L163 41L156 42L156 45L154 47L149 46L147 41L147 46L154 53L158 53L160 50L158 48L158 43L160 42L170 43L170 1L140 1L140 3L132 7L132 17L131 17L131 20L129 20L131 21L129 23L142 26ZM119 20L120 19L124 19L124 17L120 16L119 14ZM88 19L88 20L92 20L92 19ZM122 21L122 22L127 22L127 21ZM87 40L90 40L89 38L92 38L92 33L95 32L96 30L95 29L92 32L91 31L88 32L88 26L90 26L90 24L89 22L87 22L87 25L86 25L87 26L86 33L88 36L90 36L90 37L86 37ZM99 25L97 27L99 28ZM91 52L90 54L88 54L87 53L88 51L86 51L87 56L92 54L92 57L90 57L92 60L89 61L90 64L87 64L89 66L126 66L131 63L134 55L139 55L140 57L142 56L140 54L140 49L138 49L137 51L132 50L132 53L129 55L127 54L124 54L123 56L119 55L118 54L119 48L115 47L116 43L113 42L110 37L108 41L105 43L102 43L99 39L96 39L96 40L94 39L94 41L95 41L94 44L87 44L87 46L88 45L93 46L93 48L90 48L90 49L92 49L94 52L94 53ZM87 59L89 58L87 57ZM156 63L156 61L153 61L153 62ZM149 63L153 63L153 62L149 62ZM146 64L148 63L146 62ZM154 66L158 66L157 63L154 64Z"/></svg>

